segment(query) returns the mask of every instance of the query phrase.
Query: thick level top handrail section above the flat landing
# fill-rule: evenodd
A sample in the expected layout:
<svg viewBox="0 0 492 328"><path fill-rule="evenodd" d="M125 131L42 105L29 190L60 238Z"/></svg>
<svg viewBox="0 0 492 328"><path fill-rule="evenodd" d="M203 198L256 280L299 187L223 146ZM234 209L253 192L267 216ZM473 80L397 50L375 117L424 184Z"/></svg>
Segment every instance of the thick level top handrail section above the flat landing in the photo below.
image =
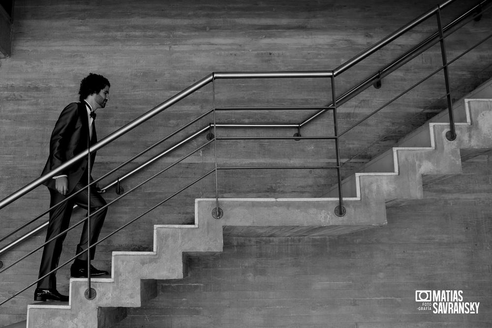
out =
<svg viewBox="0 0 492 328"><path fill-rule="evenodd" d="M333 72L285 71L285 72L214 72L214 79L273 79L273 78L329 78Z"/></svg>

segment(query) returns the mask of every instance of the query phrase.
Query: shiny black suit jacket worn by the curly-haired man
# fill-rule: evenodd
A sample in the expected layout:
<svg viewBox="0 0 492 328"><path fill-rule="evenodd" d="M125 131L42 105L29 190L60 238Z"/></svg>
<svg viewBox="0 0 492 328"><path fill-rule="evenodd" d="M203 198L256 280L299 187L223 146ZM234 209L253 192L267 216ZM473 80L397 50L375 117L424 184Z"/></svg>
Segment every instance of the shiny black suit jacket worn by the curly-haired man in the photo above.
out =
<svg viewBox="0 0 492 328"><path fill-rule="evenodd" d="M42 176L58 168L64 162L72 159L80 152L87 149L88 144L93 145L97 142L95 128L92 132L92 139L89 142L89 122L87 118L86 103L71 103L66 106L58 118L50 139L50 155L44 166ZM91 168L94 163L95 151L91 153ZM77 182L86 182L87 178L87 156L77 161L73 165L63 170L68 178L68 193L70 193ZM91 178L92 180L92 178ZM44 182L48 188L55 189L55 179Z"/></svg>

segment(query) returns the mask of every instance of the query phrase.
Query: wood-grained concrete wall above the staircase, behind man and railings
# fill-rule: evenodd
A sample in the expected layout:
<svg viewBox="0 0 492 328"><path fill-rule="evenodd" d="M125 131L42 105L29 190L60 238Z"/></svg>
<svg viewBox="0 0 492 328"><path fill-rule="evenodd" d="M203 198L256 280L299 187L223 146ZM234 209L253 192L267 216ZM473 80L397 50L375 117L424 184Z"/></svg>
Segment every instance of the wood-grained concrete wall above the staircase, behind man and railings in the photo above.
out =
<svg viewBox="0 0 492 328"><path fill-rule="evenodd" d="M49 135L62 108L76 101L78 83L89 72L105 75L112 83L111 100L107 109L98 112L97 129L103 137L120 128L132 119L151 109L163 100L196 82L212 71L258 71L258 70L315 70L333 69L340 63L358 54L381 37L399 28L417 15L430 9L439 1L29 1L15 2L12 56L0 61L0 197L38 177L48 152ZM458 1L443 11L445 20L469 5ZM491 15L484 15L481 22L471 22L462 33L448 44L453 53L463 43L473 40L490 29ZM381 19L384 17L384 19ZM432 22L433 23L433 22ZM487 28L488 27L488 28ZM365 77L382 66L382 61L391 60L395 54L411 47L431 31L431 22L412 31L394 45L357 65L338 81L338 94L353 85L355 79ZM451 39L450 39L451 40ZM488 43L490 45L490 43ZM453 96L473 89L490 76L491 54L487 43L453 64ZM452 56L450 56L452 57ZM340 108L342 126L350 126L363 114L367 114L423 76L422 68L440 65L437 47L416 58L399 73L383 81L383 88L370 89L358 99ZM217 81L217 106L252 105L324 105L330 101L330 84L327 81L269 80L269 81ZM443 94L442 79L431 79L424 87L401 100L398 110L389 109L381 116L362 125L352 135L347 134L342 143L341 155L351 157L367 144L393 130L404 118L421 112L417 121L440 110ZM438 91L438 92L436 92ZM430 108L427 106L431 105ZM131 155L156 140L168 135L213 106L212 88L189 96L157 116L152 122L136 128L117 140L111 147L98 152L94 176L100 176L118 166ZM437 109L436 109L437 108ZM306 114L285 112L239 113L244 122L271 122L281 119L299 122ZM220 113L218 119L230 121L230 115ZM159 146L165 149L187 135L191 130L210 122L208 118L195 124L178 137ZM308 134L330 133L330 121L322 119L313 123ZM417 123L418 125L418 123ZM328 127L328 128L327 128ZM235 133L230 130L220 133ZM292 136L296 131L280 132L266 130L241 131L260 135ZM398 133L397 133L398 132ZM398 139L399 133L385 138L381 148L376 147L368 155L358 158L365 163ZM243 135L243 134L241 134ZM361 138L364 136L364 138ZM194 141L187 149L174 152L146 173L123 183L125 189L144 177L154 174L172 161L180 158L192 146L200 145L205 138ZM238 146L239 145L239 146ZM223 142L218 155L228 165L305 163L310 165L333 162L333 151L326 142L305 141L272 143L267 141ZM155 150L155 151L157 151ZM221 150L221 151L220 151ZM155 152L154 151L154 152ZM102 236L120 227L124 222L140 214L149 205L169 196L180 186L198 178L212 169L212 149L204 149L180 165L137 190L129 200L118 202L105 223ZM150 157L151 154L145 157ZM130 168L141 163L137 160ZM129 168L124 168L127 172ZM350 170L348 170L350 171ZM121 175L121 174L120 174ZM185 178L185 179L184 179ZM115 177L108 178L108 180ZM319 196L333 183L332 174L326 171L289 171L288 174L271 170L225 172L219 179L222 197L310 197ZM98 247L95 266L109 267L110 254L114 250L148 250L152 244L152 224L191 223L195 198L214 195L215 181L210 178L197 184L180 198L159 207L140 223L123 230L119 235ZM106 199L116 197L113 190ZM46 209L48 193L44 187L32 192L25 200L16 202L0 212L2 234L34 217L39 209ZM82 217L78 212L73 221ZM40 245L44 233L39 233L25 244L2 255L5 265L26 254L28 249ZM70 233L65 241L63 259L73 254L78 232ZM38 254L38 253L36 253ZM39 255L31 256L15 269L2 273L1 282L8 285L0 289L4 298L37 276ZM60 290L67 293L67 269L58 276ZM2 284L3 286L3 284ZM32 290L0 307L0 322L15 322L25 317L25 304L32 299Z"/></svg>

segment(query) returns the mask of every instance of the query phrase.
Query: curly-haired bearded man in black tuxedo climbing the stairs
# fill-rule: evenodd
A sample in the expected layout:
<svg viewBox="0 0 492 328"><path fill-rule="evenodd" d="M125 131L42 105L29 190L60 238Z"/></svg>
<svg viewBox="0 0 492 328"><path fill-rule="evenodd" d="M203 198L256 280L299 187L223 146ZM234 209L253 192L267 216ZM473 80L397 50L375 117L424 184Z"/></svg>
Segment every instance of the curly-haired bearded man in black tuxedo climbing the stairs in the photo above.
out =
<svg viewBox="0 0 492 328"><path fill-rule="evenodd" d="M109 87L109 81L102 75L91 73L82 80L79 90L80 102L71 103L66 106L55 124L50 139L50 155L42 175L56 169L64 162L97 142L94 122L95 111L99 108L106 107L106 102L109 100ZM94 157L95 152L92 152L90 162L85 157L62 171L60 175L44 183L50 191L50 208L56 205L50 210L46 241L54 238L68 228L74 204L88 209L88 197L90 197L91 213L96 212L106 205L104 199L97 193L95 186L91 185L90 192L87 189L88 179L93 180L92 177L88 178L88 173L90 176L88 169L92 168ZM67 198L68 200L57 205ZM76 249L76 254L79 255L70 267L70 275L72 277L87 277L88 274L91 277L97 277L109 274L107 271L92 267L92 265L88 273L87 268L88 256L92 260L95 252L95 247L92 247L88 254L87 242L89 238L91 244L97 241L106 211L107 209L104 208L91 215L90 237L87 232L87 221L84 223L80 242ZM66 234L63 234L44 246L39 268L39 278L58 267L65 236ZM38 281L37 288L34 292L34 300L68 301L68 296L62 295L57 291L55 273L56 271Z"/></svg>

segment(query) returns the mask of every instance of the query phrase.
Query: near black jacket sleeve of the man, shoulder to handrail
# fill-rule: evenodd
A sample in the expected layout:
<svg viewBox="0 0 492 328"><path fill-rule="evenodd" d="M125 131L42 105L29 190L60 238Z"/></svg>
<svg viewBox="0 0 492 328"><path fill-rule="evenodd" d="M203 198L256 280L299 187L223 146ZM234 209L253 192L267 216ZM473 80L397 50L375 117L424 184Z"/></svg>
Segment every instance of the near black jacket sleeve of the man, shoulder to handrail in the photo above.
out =
<svg viewBox="0 0 492 328"><path fill-rule="evenodd" d="M77 121L77 104L66 106L58 118L50 140L51 168L54 170L70 158L66 158L66 150L70 147L70 140ZM61 174L67 175L67 172Z"/></svg>

